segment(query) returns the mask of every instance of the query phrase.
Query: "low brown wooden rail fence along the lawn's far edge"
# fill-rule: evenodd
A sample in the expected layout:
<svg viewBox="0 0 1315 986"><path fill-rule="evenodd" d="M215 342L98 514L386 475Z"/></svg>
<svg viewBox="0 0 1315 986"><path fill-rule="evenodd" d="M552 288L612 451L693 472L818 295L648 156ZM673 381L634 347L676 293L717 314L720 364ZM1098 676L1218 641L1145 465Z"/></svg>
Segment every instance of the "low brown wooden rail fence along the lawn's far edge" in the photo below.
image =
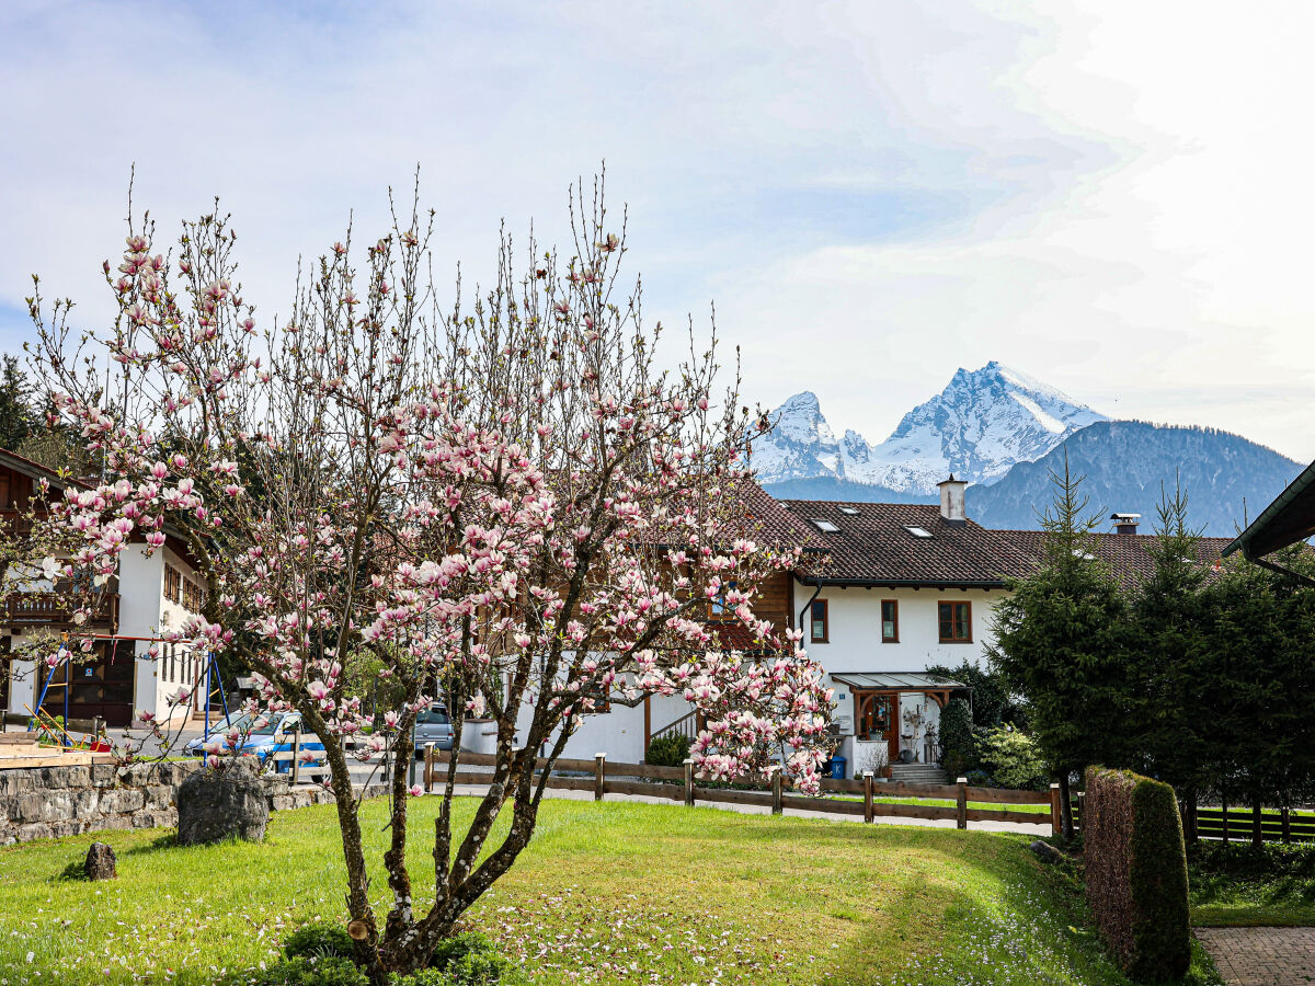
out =
<svg viewBox="0 0 1315 986"><path fill-rule="evenodd" d="M497 757L492 753L469 753L462 751L454 784L488 784L488 770L467 768L492 768ZM425 791L435 785L446 784L448 778L450 753L435 749L434 744L425 747ZM542 772L546 760L535 761L535 770ZM650 764L611 763L605 753L593 760L558 760L554 772L588 773L592 777L560 777L551 773L547 786L558 790L593 791L594 801L602 801L605 794L643 795L684 802L693 807L704 802L709 805L757 805L771 807L780 815L786 809L792 811L821 811L832 815L861 815L864 822L873 822L878 815L896 818L934 819L955 822L959 828L968 828L969 822L1018 822L1032 826L1049 826L1051 832L1060 830L1059 785L1051 785L1049 791L1002 790L998 787L973 787L963 777L957 784L896 784L877 782L868 773L853 781L822 781L823 797L803 797L786 794L780 772L773 772L761 790L742 790L732 787L709 787L697 784L693 761L684 766L652 766ZM659 784L654 784L658 781ZM676 781L677 784L669 784ZM667 782L667 784L663 784ZM826 794L856 794L861 801L827 798ZM935 798L955 802L953 807L940 805L901 805L889 803L885 798ZM997 805L999 807L969 807L972 802ZM1048 805L1049 811L1018 811L1009 806Z"/></svg>

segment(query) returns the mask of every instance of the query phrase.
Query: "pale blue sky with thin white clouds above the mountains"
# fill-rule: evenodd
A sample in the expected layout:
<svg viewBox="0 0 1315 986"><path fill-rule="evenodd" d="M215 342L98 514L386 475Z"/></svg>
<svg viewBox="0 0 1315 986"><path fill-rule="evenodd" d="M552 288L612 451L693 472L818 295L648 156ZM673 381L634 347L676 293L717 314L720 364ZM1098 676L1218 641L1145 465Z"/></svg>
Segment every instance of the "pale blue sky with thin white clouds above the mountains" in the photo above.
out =
<svg viewBox="0 0 1315 986"><path fill-rule="evenodd" d="M564 243L606 163L644 309L738 347L743 396L881 440L992 359L1116 418L1315 459L1315 7L1251 3L0 5L0 350L104 325L128 185L212 208L245 294L388 189L437 266ZM444 281L446 283L446 281Z"/></svg>

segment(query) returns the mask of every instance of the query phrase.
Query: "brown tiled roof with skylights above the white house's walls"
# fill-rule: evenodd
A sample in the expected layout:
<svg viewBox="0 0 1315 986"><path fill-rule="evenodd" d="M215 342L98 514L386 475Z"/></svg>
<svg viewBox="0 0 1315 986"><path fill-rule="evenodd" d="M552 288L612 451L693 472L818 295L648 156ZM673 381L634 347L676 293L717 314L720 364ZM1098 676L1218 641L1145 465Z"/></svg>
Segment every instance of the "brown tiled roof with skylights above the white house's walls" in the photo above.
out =
<svg viewBox="0 0 1315 986"><path fill-rule="evenodd" d="M969 521L959 526L940 517L931 504L838 504L815 500L781 501L826 546L830 561L802 568L825 582L869 585L1003 585L1035 567L1026 547ZM855 513L846 513L852 510ZM813 518L830 521L838 532L819 531ZM931 534L919 538L909 527Z"/></svg>

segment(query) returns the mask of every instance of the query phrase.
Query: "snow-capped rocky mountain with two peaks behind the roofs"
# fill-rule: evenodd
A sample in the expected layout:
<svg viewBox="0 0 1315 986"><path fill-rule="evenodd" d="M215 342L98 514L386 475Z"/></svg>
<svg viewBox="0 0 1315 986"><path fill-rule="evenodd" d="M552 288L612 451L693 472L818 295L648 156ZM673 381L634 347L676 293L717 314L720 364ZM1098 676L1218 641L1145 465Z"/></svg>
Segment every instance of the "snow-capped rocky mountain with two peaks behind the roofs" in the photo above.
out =
<svg viewBox="0 0 1315 986"><path fill-rule="evenodd" d="M944 390L905 414L880 444L852 430L838 440L809 390L785 401L772 421L772 430L753 440L760 482L831 477L920 494L934 493L951 472L990 484L1014 463L1040 459L1106 417L992 362L981 369L959 369Z"/></svg>

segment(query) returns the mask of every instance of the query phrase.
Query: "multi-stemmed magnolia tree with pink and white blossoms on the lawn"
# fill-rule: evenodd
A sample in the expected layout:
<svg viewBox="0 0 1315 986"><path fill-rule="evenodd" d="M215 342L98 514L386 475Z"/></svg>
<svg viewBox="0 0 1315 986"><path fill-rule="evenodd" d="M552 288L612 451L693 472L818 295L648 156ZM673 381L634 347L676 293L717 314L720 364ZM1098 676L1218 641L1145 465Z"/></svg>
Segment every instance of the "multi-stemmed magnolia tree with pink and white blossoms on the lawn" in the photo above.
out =
<svg viewBox="0 0 1315 986"><path fill-rule="evenodd" d="M705 776L778 763L817 787L830 694L798 636L753 614L798 548L743 509L746 411L714 393L715 350L693 330L684 363L659 368L660 326L638 287L618 289L625 223L609 227L601 184L573 189L571 214L569 259L531 242L518 273L504 238L472 309L460 291L439 308L433 213L414 205L364 251L348 231L283 322L242 297L220 216L185 223L176 255L130 226L105 263L118 314L104 334L76 337L68 302L30 302L53 405L105 463L58 511L80 540L67 571L105 577L166 531L185 540L209 592L168 636L235 656L258 681L249 711L295 709L323 740L358 958L379 981L422 966L514 862L544 790L535 753L551 766L601 701L682 694L707 723ZM756 656L722 647L710 598ZM359 655L401 695L377 718L345 685ZM454 828L446 786L417 893L408 765L434 701L492 718L497 763L468 826ZM387 907L348 774L385 753Z"/></svg>

